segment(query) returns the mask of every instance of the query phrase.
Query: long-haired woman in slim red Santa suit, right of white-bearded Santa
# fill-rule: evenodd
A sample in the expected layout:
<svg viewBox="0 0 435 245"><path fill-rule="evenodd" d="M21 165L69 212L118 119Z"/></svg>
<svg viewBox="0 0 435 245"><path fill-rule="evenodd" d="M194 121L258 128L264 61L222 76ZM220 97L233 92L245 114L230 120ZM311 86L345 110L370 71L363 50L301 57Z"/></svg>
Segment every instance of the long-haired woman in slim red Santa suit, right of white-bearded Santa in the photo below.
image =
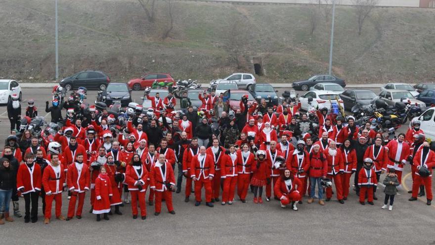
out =
<svg viewBox="0 0 435 245"><path fill-rule="evenodd" d="M343 200L347 200L350 188L350 176L356 171L356 150L352 147L349 139L345 140L341 149L344 164L344 172L342 175Z"/></svg>

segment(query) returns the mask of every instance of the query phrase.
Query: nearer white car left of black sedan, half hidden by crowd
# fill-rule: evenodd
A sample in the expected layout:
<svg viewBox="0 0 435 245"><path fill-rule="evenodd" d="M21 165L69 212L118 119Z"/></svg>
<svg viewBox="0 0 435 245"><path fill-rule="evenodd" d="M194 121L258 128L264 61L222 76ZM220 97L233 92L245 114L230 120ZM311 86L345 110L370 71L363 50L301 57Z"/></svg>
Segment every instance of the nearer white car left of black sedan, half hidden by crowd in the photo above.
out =
<svg viewBox="0 0 435 245"><path fill-rule="evenodd" d="M338 92L328 90L316 90L307 92L299 98L299 101L301 101L301 109L304 111L308 111L311 106L316 108L318 105L319 109L326 107L329 110L329 108L331 108L331 103L329 101L331 100L332 103L337 103L337 99L340 105L345 109L343 100L339 97L339 95L340 93ZM310 97L312 98L311 105L308 104L308 98Z"/></svg>

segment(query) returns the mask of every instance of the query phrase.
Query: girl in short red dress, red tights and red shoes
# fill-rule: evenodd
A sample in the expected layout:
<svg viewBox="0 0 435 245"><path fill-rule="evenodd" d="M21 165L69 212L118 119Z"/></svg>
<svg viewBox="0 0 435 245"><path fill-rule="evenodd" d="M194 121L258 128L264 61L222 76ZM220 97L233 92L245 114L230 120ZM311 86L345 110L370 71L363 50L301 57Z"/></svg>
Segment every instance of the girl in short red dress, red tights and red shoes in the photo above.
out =
<svg viewBox="0 0 435 245"><path fill-rule="evenodd" d="M266 161L266 152L264 150L258 150L257 161L252 166L253 176L251 179L251 185L254 187L254 203L263 203L261 195L263 193L263 186L270 183L270 173L268 173L268 166ZM258 199L257 199L258 192Z"/></svg>

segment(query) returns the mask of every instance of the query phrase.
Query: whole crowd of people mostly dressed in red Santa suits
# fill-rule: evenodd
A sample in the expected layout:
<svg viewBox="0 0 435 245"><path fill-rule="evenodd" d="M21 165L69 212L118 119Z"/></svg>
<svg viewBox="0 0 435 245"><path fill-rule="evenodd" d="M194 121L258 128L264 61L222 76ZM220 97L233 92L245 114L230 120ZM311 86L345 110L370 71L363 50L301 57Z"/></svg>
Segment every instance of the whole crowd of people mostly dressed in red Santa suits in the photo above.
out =
<svg viewBox="0 0 435 245"><path fill-rule="evenodd" d="M174 97L183 103L181 111L174 110ZM358 127L351 116L333 115L328 108L317 108L315 126L294 102L274 107L264 99L250 103L243 96L232 111L227 98L213 91L199 97L203 104L194 110L186 93L169 93L167 98L157 93L147 96L152 113L137 105L118 117L110 108L90 106L85 111L74 94L63 106L53 99L51 106L46 101L45 111L51 113L51 122L64 126L51 138L33 135L31 129L19 131L17 120L31 120L37 108L29 100L26 116L21 116L18 97L12 97L7 106L11 135L0 159L0 224L13 221L11 200L14 216L22 216L20 196L26 223L38 221L40 197L45 224L53 200L59 220L81 219L85 199L97 221L109 220L112 213L122 215L120 207L128 203L133 219L146 219L146 193L154 215L161 213L162 201L175 214L172 195L180 194L183 186L184 201L190 202L194 193L195 206L203 202L204 190L209 207L231 205L236 194L245 203L251 192L254 203L263 203L264 196L298 210L303 198L325 205L334 192L344 204L353 183L359 203L365 205L367 199L373 205L384 173L382 208L392 210L405 165L410 165L413 179L409 200L426 195L431 204L435 152L418 121L386 144L370 123ZM66 217L61 213L63 195L69 199Z"/></svg>

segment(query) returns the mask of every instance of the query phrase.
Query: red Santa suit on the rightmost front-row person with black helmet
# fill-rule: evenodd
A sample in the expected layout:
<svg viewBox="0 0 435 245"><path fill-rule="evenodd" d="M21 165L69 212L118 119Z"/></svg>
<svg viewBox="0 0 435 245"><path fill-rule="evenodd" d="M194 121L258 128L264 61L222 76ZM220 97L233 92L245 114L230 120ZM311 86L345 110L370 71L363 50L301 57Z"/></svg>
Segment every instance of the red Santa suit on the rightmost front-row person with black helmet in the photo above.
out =
<svg viewBox="0 0 435 245"><path fill-rule="evenodd" d="M419 187L425 185L427 199L432 200L432 168L435 167L435 152L430 149L427 152L424 151L424 148L419 149L414 156L413 165L416 172L414 182L412 183L412 197L417 198ZM431 172L428 177L422 177L418 173L418 169L423 166L427 167Z"/></svg>

